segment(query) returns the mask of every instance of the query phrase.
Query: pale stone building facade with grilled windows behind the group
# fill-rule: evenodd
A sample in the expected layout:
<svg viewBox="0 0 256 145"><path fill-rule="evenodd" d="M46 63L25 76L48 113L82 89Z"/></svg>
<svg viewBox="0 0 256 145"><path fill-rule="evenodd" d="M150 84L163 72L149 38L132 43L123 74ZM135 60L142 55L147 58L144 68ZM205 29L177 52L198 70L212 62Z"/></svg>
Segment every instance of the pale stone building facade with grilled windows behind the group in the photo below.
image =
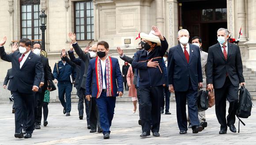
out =
<svg viewBox="0 0 256 145"><path fill-rule="evenodd" d="M218 7L218 3L222 6ZM256 0L0 0L0 4L0 38L7 36L8 52L12 41L22 37L41 39L38 11L45 10L45 49L52 69L60 60L60 50L68 49L68 32L77 34L82 47L107 41L110 55L119 58L116 47L132 56L139 43L136 36L139 32L149 33L151 25L158 26L171 47L178 43L177 31L181 28L194 36L203 36L208 45L217 42L216 33L210 31L211 24L216 23L226 26L236 39L242 28L239 45L243 64L256 70ZM194 6L190 7L191 4ZM190 20L188 14L193 12L196 14L191 17L196 17ZM200 22L195 22L196 18ZM203 18L209 18L208 23ZM195 25L188 26L190 22ZM215 39L207 40L206 35ZM123 64L120 60L120 65ZM11 63L0 60L1 85L9 68ZM1 87L0 99L8 98L8 93Z"/></svg>

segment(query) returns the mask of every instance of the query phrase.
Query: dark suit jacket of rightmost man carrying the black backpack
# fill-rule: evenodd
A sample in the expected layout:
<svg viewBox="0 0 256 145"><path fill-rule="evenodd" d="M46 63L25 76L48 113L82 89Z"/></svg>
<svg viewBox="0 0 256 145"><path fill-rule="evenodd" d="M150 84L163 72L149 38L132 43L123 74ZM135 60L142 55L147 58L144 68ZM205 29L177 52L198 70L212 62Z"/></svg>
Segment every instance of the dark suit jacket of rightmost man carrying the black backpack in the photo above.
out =
<svg viewBox="0 0 256 145"><path fill-rule="evenodd" d="M227 60L225 60L221 46L217 43L209 47L208 51L207 84L212 83L215 89L222 88L226 80L226 73L235 87L239 87L239 83L245 82L239 46L228 43Z"/></svg>

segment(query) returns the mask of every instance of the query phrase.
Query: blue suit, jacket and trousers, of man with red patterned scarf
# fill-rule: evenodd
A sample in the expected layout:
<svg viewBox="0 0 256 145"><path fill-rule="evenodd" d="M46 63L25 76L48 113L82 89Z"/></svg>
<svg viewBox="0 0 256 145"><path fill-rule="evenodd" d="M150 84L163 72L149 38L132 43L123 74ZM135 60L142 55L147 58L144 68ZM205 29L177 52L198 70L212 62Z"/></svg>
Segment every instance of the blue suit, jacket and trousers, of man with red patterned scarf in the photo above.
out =
<svg viewBox="0 0 256 145"><path fill-rule="evenodd" d="M112 82L113 82L112 89L114 94L113 96L107 97L106 92L102 91L100 97L96 99L96 102L98 105L98 111L100 114L100 122L103 130L103 134L110 133L109 129L114 116L116 97L118 96L117 91L120 91L120 92L124 91L123 77L120 71L120 65L118 63L118 59L111 57L111 60L112 60L112 71L113 71L112 72ZM95 63L96 63L96 58L93 58L90 60L88 71L87 71L87 79L86 79L86 95L91 95L93 98L96 98L97 92L98 92ZM102 71L106 71L106 70L102 70ZM106 73L104 78L106 83Z"/></svg>

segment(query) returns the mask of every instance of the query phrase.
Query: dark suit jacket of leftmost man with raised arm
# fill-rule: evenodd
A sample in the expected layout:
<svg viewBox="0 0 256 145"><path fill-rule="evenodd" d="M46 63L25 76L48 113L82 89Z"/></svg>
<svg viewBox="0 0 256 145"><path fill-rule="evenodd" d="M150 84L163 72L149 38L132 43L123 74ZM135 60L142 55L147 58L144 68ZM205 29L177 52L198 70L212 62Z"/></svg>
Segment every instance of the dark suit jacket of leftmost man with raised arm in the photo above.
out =
<svg viewBox="0 0 256 145"><path fill-rule="evenodd" d="M39 87L42 78L42 64L40 56L30 51L23 66L19 68L19 57L22 54L15 51L11 54L6 54L4 46L0 47L0 57L2 60L11 62L12 75L9 76L10 91L18 91L19 93L33 94L33 86Z"/></svg>

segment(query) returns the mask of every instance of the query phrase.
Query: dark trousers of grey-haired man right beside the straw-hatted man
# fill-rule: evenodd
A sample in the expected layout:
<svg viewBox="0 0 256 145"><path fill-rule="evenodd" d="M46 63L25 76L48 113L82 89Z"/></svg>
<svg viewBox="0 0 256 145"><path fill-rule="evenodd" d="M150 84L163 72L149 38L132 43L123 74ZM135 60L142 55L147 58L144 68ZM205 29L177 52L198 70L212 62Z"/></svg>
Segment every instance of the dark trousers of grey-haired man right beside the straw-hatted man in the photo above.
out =
<svg viewBox="0 0 256 145"><path fill-rule="evenodd" d="M190 82L190 81L189 81ZM197 91L192 88L191 82L189 83L188 91L175 91L176 99L176 112L177 122L180 130L188 130L186 102L188 102L188 116L190 118L192 127L199 126L198 109L196 105Z"/></svg>

